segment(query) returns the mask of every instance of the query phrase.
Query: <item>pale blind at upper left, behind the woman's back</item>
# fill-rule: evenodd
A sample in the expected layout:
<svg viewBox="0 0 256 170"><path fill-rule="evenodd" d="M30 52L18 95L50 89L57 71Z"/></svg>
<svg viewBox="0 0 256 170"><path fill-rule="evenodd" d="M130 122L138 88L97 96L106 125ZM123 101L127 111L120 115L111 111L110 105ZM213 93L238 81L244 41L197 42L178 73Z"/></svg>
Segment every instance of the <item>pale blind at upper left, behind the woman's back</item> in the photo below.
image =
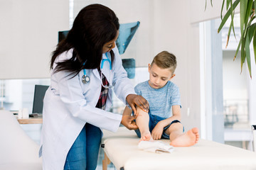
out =
<svg viewBox="0 0 256 170"><path fill-rule="evenodd" d="M0 79L46 78L69 1L0 1Z"/></svg>

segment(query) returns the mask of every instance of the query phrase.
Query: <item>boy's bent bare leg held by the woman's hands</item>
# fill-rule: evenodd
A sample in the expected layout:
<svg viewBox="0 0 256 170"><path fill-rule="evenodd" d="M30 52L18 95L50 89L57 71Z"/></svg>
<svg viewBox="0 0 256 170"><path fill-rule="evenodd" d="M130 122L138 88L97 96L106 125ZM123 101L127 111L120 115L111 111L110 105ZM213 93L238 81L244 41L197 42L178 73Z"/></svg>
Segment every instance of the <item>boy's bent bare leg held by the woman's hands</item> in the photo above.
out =
<svg viewBox="0 0 256 170"><path fill-rule="evenodd" d="M153 141L149 131L149 113L142 111L142 109L138 107L137 114L138 117L136 118L136 124L141 133L141 141Z"/></svg>

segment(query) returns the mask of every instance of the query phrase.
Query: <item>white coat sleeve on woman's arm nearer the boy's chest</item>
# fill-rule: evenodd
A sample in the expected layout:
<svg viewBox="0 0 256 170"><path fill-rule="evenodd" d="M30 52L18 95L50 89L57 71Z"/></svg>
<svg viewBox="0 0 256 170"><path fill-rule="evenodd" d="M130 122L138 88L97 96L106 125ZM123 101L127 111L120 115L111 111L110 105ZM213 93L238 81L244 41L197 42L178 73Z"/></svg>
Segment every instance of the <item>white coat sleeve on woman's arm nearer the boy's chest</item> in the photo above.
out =
<svg viewBox="0 0 256 170"><path fill-rule="evenodd" d="M114 62L113 62L113 85L114 93L117 97L126 103L126 97L129 94L136 94L134 91L134 86L132 85L131 80L127 77L127 72L122 66L122 60L117 50L117 47L114 47Z"/></svg>

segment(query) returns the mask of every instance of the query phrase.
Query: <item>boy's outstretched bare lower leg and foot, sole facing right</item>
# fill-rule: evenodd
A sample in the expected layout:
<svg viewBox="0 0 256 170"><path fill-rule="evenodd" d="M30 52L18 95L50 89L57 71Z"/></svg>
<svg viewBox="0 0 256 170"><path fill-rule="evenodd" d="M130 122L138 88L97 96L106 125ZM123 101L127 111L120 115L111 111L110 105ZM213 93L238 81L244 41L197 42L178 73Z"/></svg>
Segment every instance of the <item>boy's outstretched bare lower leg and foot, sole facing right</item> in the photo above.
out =
<svg viewBox="0 0 256 170"><path fill-rule="evenodd" d="M190 147L199 140L198 128L192 128L188 132L183 133L183 125L181 123L172 124L166 130L166 134L170 136L170 145L174 147Z"/></svg>

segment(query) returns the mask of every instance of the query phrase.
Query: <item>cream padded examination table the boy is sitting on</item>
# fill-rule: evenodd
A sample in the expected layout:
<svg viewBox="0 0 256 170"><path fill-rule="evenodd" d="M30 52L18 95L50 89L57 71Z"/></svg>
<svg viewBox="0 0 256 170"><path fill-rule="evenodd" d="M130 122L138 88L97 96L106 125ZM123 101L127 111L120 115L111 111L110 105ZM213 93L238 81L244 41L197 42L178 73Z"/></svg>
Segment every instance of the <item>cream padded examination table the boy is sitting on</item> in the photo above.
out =
<svg viewBox="0 0 256 170"><path fill-rule="evenodd" d="M105 159L102 168L112 162L117 170L255 170L256 153L218 142L200 139L192 147L174 147L171 153L139 150L134 131L119 128L116 133L103 131ZM162 140L169 144L169 140Z"/></svg>

